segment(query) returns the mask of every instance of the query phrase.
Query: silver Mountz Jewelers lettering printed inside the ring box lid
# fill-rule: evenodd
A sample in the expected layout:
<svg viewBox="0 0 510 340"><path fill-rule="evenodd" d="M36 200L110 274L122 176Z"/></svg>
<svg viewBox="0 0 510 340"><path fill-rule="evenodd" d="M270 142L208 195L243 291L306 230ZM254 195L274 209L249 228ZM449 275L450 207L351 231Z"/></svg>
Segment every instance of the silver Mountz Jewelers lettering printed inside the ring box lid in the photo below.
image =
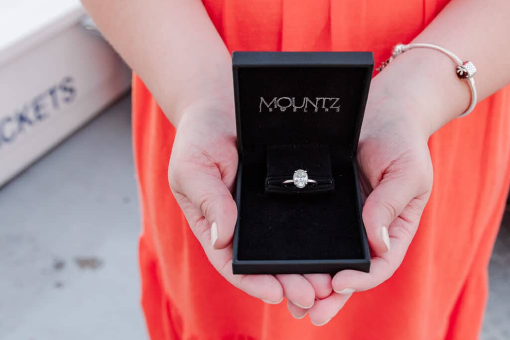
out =
<svg viewBox="0 0 510 340"><path fill-rule="evenodd" d="M259 112L340 112L340 98L332 97L260 97Z"/></svg>

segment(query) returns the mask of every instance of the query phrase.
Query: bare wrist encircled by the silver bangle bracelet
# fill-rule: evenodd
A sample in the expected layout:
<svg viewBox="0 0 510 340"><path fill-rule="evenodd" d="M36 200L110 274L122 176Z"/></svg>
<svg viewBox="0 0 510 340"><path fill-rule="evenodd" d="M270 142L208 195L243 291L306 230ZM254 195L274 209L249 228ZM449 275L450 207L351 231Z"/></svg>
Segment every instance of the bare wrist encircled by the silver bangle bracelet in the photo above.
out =
<svg viewBox="0 0 510 340"><path fill-rule="evenodd" d="M430 136L470 104L469 85L458 79L455 64L440 51L410 49L373 80L374 99L401 106Z"/></svg>

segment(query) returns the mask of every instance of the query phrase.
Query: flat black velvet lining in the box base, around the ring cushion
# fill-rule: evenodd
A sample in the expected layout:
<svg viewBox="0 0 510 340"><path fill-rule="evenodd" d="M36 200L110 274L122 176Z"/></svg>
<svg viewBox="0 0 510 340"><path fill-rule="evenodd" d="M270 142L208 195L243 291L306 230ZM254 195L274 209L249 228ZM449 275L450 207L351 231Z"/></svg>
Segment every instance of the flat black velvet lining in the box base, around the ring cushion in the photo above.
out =
<svg viewBox="0 0 510 340"><path fill-rule="evenodd" d="M239 260L364 257L352 163L334 169L333 195L266 195L265 164L242 166Z"/></svg>

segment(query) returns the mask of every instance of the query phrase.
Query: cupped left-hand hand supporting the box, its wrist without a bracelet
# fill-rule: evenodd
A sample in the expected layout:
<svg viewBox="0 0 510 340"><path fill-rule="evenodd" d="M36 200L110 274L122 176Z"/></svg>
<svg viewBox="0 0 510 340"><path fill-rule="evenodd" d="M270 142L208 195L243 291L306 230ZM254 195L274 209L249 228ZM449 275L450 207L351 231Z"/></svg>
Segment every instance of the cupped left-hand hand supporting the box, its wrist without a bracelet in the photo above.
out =
<svg viewBox="0 0 510 340"><path fill-rule="evenodd" d="M265 302L279 303L285 296L296 308L308 309L316 297L333 291L329 274L232 273L237 207L231 192L238 153L234 109L227 102L233 100L196 103L185 110L168 167L170 188L209 261L228 282Z"/></svg>

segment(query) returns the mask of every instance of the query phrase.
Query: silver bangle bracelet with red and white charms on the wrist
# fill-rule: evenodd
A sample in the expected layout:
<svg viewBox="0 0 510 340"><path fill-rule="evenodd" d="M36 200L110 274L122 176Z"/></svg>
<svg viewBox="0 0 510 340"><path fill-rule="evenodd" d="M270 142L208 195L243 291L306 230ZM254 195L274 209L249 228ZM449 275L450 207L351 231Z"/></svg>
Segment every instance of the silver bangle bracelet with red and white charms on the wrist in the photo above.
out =
<svg viewBox="0 0 510 340"><path fill-rule="evenodd" d="M376 70L379 72L382 71L382 69L384 69L386 66L388 66L388 64L393 59L395 59L397 56L401 55L406 50L409 50L411 48L436 49L436 50L444 53L448 57L450 57L457 64L457 68L455 70L457 77L459 77L462 80L466 80L469 84L469 88L471 89L471 104L469 105L468 109L466 111L464 111L464 113L457 116L456 118L461 118L461 117L467 116L469 113L471 113L471 111L473 111L473 109L475 108L476 101L477 101L475 80L473 79L473 75L475 75L475 73L476 73L476 67L470 61L463 62L460 58L455 56L453 53L451 53L451 51L447 50L446 48L443 48L438 45L426 44L426 43L413 43L413 44L407 44L407 45L397 44L395 47L393 47L391 57L388 58L386 61L382 62L381 66L377 67Z"/></svg>

